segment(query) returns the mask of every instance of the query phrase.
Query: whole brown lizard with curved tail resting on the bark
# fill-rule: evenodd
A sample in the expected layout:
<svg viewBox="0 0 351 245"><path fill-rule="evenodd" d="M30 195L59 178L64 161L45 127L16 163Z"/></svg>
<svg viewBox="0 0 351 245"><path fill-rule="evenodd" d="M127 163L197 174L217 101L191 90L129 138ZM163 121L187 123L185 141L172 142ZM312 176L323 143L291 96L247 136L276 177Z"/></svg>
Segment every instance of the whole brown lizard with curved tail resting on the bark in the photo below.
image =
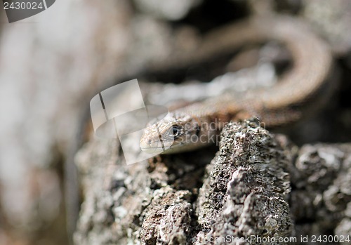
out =
<svg viewBox="0 0 351 245"><path fill-rule="evenodd" d="M226 93L175 110L145 128L141 150L152 153L163 149L163 154L190 151L213 142L211 138L229 121L258 117L273 128L298 121L320 107L335 85L331 80L333 58L324 41L296 18L256 16L222 27L208 34L197 51L184 60L196 63L248 42L270 40L286 46L293 62L277 84L244 95Z"/></svg>

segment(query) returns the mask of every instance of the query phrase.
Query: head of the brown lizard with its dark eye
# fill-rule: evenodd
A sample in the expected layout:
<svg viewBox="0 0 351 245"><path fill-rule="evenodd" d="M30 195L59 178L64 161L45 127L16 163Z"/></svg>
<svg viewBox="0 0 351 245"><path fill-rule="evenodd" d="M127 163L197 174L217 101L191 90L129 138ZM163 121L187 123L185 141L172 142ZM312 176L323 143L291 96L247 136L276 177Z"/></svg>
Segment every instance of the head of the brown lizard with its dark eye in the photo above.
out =
<svg viewBox="0 0 351 245"><path fill-rule="evenodd" d="M192 150L199 144L200 133L201 126L194 117L173 112L145 128L140 138L140 148L147 153Z"/></svg>

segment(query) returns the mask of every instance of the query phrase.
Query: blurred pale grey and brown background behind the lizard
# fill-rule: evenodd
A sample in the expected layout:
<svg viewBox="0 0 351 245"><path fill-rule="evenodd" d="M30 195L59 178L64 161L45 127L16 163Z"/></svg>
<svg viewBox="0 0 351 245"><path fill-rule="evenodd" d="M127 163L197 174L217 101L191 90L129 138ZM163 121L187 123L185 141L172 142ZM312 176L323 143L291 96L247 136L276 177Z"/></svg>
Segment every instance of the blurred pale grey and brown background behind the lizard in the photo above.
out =
<svg viewBox="0 0 351 245"><path fill-rule="evenodd" d="M59 0L13 23L1 8L0 244L67 244L64 162L89 96L191 50L212 29L265 11L304 19L331 46L342 80L336 110L324 118L333 117L330 124L309 127L319 126L322 140L347 142L348 0Z"/></svg>

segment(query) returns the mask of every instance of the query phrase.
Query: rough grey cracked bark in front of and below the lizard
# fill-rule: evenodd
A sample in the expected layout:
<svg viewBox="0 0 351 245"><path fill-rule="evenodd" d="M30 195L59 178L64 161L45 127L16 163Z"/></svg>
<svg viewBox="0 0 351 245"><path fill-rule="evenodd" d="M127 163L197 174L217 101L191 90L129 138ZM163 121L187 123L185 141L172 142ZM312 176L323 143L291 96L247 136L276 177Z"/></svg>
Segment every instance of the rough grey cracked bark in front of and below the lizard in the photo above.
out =
<svg viewBox="0 0 351 245"><path fill-rule="evenodd" d="M76 244L284 244L351 233L351 145L296 147L257 121L230 123L220 150L126 166L119 143L77 154L84 203ZM212 160L211 158L216 154Z"/></svg>

